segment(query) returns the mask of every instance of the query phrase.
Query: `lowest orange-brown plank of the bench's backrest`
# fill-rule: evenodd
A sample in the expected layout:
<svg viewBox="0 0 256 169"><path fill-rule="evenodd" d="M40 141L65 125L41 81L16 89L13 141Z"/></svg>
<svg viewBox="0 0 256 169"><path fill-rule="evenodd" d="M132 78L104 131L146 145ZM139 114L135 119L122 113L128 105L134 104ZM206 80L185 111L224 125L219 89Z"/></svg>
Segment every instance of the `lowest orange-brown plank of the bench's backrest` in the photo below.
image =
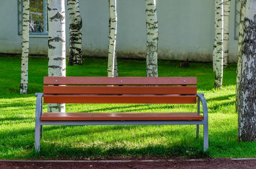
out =
<svg viewBox="0 0 256 169"><path fill-rule="evenodd" d="M44 95L44 103L196 103L196 95Z"/></svg>

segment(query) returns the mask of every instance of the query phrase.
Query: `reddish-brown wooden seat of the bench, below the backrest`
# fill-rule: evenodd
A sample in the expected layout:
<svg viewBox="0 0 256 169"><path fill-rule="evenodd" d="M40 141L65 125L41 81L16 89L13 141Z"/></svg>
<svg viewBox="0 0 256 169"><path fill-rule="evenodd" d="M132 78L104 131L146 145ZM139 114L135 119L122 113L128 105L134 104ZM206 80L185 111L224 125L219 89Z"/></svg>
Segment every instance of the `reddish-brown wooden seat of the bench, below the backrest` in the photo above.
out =
<svg viewBox="0 0 256 169"><path fill-rule="evenodd" d="M198 113L43 113L46 121L129 121L129 120L203 120Z"/></svg>

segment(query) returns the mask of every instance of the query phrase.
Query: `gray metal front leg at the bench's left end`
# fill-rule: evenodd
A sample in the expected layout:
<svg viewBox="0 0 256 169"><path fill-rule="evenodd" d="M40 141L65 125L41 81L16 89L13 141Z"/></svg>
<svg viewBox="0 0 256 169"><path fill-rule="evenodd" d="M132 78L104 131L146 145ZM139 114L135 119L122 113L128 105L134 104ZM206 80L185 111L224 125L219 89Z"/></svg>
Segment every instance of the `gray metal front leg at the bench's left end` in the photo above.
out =
<svg viewBox="0 0 256 169"><path fill-rule="evenodd" d="M40 116L43 113L43 93L36 93L36 125L35 125L35 150L40 151L40 135L43 133L43 126L40 125Z"/></svg>

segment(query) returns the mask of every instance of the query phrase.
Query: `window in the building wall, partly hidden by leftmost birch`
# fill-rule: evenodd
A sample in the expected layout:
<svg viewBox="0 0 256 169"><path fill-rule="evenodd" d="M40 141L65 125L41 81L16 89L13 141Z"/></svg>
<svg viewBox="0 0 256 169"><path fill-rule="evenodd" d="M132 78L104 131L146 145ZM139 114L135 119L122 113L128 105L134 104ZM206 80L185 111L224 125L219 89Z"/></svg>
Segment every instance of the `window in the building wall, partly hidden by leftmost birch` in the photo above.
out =
<svg viewBox="0 0 256 169"><path fill-rule="evenodd" d="M29 35L47 35L47 0L29 0ZM18 34L22 35L23 0L18 0Z"/></svg>

